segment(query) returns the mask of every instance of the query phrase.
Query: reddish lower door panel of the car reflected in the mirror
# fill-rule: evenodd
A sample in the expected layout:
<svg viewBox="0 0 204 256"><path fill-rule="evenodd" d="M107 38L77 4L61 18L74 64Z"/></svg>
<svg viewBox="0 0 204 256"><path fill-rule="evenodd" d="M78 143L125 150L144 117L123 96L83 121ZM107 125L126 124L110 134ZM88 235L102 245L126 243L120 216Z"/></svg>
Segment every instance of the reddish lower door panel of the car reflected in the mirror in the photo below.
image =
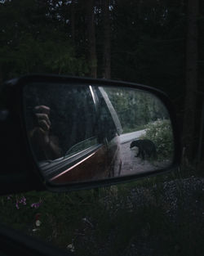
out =
<svg viewBox="0 0 204 256"><path fill-rule="evenodd" d="M51 182L62 184L115 177L120 174L121 165L120 142L116 136L109 145L101 145L76 164L51 177Z"/></svg>

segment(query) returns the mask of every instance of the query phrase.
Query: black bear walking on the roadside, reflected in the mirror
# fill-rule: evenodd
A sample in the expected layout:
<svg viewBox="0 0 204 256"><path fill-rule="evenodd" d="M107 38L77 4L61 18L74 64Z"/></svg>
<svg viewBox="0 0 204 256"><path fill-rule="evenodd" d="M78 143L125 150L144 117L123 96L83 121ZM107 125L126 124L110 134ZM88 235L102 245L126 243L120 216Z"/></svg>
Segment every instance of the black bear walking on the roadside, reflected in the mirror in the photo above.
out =
<svg viewBox="0 0 204 256"><path fill-rule="evenodd" d="M153 144L153 141L150 140L136 140L131 141L130 148L134 146L138 147L138 153L135 157L141 157L143 160L145 157L157 159L157 150L156 146Z"/></svg>

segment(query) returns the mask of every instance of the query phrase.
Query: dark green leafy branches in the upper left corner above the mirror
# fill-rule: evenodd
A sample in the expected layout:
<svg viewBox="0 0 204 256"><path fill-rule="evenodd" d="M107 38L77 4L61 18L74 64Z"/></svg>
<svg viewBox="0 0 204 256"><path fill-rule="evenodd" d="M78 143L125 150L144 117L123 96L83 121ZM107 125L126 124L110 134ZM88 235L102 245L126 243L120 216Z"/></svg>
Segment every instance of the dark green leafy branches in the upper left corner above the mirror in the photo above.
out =
<svg viewBox="0 0 204 256"><path fill-rule="evenodd" d="M46 15L46 5L34 0L21 4L1 4L3 79L29 73L85 75L88 67L84 55L77 56L60 22L53 23Z"/></svg>

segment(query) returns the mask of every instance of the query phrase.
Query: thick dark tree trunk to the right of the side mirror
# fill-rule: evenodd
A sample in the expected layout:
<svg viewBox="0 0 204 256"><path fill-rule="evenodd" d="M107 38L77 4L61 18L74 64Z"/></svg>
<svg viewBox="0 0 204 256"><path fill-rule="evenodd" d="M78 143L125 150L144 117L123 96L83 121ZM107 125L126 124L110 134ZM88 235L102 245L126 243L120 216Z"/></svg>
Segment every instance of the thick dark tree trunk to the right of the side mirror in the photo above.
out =
<svg viewBox="0 0 204 256"><path fill-rule="evenodd" d="M186 93L184 101L184 159L193 160L195 150L197 91L197 16L198 0L188 0L188 30L186 40Z"/></svg>

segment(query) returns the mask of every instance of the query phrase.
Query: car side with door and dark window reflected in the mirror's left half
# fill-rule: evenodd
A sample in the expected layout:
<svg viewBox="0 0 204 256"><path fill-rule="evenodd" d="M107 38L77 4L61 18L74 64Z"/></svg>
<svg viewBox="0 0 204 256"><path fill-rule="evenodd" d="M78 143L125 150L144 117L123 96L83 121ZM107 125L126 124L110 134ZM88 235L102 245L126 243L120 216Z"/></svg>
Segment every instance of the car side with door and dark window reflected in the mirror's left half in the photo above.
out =
<svg viewBox="0 0 204 256"><path fill-rule="evenodd" d="M98 112L91 86L62 86L60 93L57 93L55 86L49 84L48 87L44 86L41 93L38 93L38 90L35 85L33 88L24 88L28 133L38 125L36 115L42 119L42 114L33 113L33 110L36 106L47 106L50 109L47 118L51 123L51 142L60 148L60 157L51 158L47 148L38 142L38 134L32 133L30 136L33 155L42 168L43 175L55 183L90 181L93 178L106 177L107 172L104 170L107 169L108 147L97 123ZM103 125L101 124L102 127Z"/></svg>

